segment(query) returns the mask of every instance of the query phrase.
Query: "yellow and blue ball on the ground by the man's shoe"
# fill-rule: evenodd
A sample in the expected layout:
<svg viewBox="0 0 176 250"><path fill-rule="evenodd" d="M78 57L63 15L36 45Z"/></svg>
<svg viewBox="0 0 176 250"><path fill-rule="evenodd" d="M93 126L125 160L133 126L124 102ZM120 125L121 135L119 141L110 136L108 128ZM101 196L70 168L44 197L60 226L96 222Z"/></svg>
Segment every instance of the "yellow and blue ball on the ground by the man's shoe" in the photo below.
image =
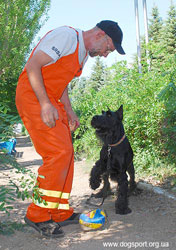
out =
<svg viewBox="0 0 176 250"><path fill-rule="evenodd" d="M82 213L79 217L79 223L83 230L97 230L104 227L107 215L102 209L95 209L87 214Z"/></svg>

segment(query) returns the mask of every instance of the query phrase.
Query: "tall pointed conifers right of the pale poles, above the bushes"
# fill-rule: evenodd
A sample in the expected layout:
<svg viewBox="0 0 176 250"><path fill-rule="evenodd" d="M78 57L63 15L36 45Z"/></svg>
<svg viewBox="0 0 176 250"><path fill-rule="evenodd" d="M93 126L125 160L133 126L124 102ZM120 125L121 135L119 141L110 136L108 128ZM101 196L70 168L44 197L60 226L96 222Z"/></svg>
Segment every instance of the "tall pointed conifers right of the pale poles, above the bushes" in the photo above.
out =
<svg viewBox="0 0 176 250"><path fill-rule="evenodd" d="M149 43L146 46L142 40L142 64L146 64L146 49L152 69L160 71L170 55L176 54L176 7L171 1L166 20L162 20L157 6L154 6L149 20ZM145 68L144 68L145 70Z"/></svg>

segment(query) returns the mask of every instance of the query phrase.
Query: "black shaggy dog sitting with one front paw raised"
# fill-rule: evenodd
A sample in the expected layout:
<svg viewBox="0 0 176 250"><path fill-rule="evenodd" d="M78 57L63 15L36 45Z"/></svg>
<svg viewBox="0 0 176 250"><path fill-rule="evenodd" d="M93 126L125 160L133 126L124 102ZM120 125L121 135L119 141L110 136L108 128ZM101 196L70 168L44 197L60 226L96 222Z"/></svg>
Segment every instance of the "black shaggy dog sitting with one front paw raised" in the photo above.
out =
<svg viewBox="0 0 176 250"><path fill-rule="evenodd" d="M90 186L97 189L104 181L102 190L95 197L107 197L110 192L109 177L118 183L118 195L115 202L117 214L128 214L128 176L130 176L130 190L136 188L135 171L133 166L133 151L125 135L123 120L123 106L116 112L102 111L102 115L92 118L91 125L104 145L100 152L100 159L95 163L90 173Z"/></svg>

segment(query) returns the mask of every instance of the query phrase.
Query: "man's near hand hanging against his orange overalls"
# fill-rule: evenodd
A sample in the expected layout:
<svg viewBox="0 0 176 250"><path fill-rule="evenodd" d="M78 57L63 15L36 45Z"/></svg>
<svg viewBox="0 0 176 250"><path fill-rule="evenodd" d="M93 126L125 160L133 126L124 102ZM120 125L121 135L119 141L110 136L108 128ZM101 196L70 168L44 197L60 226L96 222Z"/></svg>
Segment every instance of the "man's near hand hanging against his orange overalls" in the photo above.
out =
<svg viewBox="0 0 176 250"><path fill-rule="evenodd" d="M59 119L59 114L51 103L46 103L41 106L41 118L48 127L53 128Z"/></svg>

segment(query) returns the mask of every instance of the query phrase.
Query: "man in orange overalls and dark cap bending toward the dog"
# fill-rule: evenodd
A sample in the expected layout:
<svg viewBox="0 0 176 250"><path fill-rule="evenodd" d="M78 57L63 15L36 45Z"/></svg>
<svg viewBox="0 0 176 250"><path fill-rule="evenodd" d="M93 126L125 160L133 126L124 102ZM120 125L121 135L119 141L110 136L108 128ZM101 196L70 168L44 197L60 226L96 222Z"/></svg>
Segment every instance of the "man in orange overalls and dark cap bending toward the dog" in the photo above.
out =
<svg viewBox="0 0 176 250"><path fill-rule="evenodd" d="M48 237L63 236L61 225L78 223L79 214L69 206L73 179L73 146L70 127L80 125L71 107L67 85L80 76L88 58L115 49L125 54L122 31L113 21L101 21L88 31L64 26L48 32L19 77L16 106L43 165L38 170L38 192L25 222Z"/></svg>

